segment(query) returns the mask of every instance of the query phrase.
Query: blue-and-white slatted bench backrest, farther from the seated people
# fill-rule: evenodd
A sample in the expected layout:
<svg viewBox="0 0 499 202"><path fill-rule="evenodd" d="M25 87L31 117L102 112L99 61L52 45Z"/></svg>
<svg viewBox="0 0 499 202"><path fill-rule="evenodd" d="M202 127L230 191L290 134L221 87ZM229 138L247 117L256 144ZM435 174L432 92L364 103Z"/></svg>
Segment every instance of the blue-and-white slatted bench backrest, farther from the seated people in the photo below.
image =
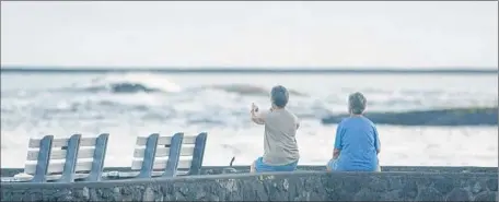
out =
<svg viewBox="0 0 499 202"><path fill-rule="evenodd" d="M72 182L76 174L88 174L83 180L101 180L108 134L97 138L70 138L46 135L30 139L24 173L33 175L32 181L44 182L47 176L60 176L56 181Z"/></svg>

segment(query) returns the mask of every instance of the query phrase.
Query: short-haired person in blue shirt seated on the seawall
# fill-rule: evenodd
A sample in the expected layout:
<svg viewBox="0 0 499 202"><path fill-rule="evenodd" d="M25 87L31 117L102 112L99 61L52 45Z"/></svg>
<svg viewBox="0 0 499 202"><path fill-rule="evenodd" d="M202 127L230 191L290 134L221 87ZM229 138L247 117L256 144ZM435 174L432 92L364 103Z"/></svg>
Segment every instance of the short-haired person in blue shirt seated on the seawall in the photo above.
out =
<svg viewBox="0 0 499 202"><path fill-rule="evenodd" d="M336 129L333 158L328 171L380 171L380 139L374 123L362 116L367 99L357 92L348 96L350 117Z"/></svg>

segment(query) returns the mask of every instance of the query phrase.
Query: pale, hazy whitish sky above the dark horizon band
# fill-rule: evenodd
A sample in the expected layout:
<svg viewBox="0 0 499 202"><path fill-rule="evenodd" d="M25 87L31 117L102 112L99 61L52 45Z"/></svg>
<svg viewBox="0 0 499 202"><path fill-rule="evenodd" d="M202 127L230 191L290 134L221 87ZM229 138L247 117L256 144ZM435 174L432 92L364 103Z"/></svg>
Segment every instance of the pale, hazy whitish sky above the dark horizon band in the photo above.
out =
<svg viewBox="0 0 499 202"><path fill-rule="evenodd" d="M1 64L491 67L497 1L1 2Z"/></svg>

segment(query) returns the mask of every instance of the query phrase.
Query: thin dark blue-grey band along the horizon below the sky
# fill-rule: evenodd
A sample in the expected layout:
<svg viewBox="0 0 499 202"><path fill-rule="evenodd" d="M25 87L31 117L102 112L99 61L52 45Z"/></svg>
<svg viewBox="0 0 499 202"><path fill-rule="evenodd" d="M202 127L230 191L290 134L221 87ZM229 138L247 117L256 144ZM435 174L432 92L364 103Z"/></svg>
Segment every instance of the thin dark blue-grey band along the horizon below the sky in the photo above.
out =
<svg viewBox="0 0 499 202"><path fill-rule="evenodd" d="M48 68L50 67L50 68ZM108 72L155 72L155 73L498 73L498 68L361 68L361 67L84 67L84 66L1 66L1 73L108 73Z"/></svg>

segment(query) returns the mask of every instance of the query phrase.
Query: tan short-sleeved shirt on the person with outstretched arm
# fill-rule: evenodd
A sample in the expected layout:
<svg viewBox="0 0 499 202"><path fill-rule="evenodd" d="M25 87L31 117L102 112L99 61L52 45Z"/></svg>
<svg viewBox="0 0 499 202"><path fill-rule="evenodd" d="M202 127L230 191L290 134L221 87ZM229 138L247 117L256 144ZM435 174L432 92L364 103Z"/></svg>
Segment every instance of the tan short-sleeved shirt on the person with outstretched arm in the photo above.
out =
<svg viewBox="0 0 499 202"><path fill-rule="evenodd" d="M265 120L264 163L287 165L300 158L297 144L298 117L288 109L276 109L262 114Z"/></svg>

